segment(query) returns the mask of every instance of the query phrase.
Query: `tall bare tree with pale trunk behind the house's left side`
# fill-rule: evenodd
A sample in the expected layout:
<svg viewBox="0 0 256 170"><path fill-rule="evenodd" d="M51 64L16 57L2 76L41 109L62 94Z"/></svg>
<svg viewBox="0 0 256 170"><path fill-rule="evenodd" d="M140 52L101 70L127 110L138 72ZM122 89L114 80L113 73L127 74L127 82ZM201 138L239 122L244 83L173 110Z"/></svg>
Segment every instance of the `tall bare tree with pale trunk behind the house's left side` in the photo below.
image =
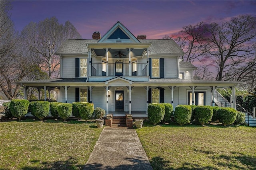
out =
<svg viewBox="0 0 256 170"><path fill-rule="evenodd" d="M30 57L36 60L40 68L48 72L49 78L58 75L60 60L54 55L56 49L69 38L82 38L69 21L59 24L57 18L46 18L39 23L31 22L22 30L22 37Z"/></svg>

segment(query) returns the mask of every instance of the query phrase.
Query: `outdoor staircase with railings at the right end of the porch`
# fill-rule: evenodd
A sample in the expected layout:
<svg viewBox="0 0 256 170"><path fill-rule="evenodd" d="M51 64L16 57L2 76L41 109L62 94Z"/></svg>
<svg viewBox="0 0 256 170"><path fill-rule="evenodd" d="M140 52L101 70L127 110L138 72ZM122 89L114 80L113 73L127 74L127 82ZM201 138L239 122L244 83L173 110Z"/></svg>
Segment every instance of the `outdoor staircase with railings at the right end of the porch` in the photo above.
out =
<svg viewBox="0 0 256 170"><path fill-rule="evenodd" d="M230 95L231 96L231 95ZM214 91L214 102L219 107L231 107L231 102L228 102L226 98L224 98L218 91ZM246 109L244 109L240 104L236 104L236 110L244 112L246 114L245 122L249 126L256 126L256 117L249 113Z"/></svg>

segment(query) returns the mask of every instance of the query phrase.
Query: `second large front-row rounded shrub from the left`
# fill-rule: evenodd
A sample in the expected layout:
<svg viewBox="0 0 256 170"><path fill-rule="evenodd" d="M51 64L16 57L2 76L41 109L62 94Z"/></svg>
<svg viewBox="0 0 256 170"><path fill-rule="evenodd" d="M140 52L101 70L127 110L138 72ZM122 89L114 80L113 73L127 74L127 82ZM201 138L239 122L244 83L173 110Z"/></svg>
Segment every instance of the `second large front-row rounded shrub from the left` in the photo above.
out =
<svg viewBox="0 0 256 170"><path fill-rule="evenodd" d="M36 101L34 103L34 114L38 119L41 121L44 119L44 117L49 115L50 111L50 102L46 101Z"/></svg>

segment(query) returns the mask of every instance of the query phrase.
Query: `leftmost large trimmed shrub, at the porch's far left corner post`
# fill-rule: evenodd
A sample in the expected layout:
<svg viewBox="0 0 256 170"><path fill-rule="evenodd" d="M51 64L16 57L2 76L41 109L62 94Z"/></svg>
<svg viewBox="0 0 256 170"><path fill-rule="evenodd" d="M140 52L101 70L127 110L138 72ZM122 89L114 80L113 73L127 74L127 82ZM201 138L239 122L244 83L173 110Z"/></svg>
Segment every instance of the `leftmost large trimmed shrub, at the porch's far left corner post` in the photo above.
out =
<svg viewBox="0 0 256 170"><path fill-rule="evenodd" d="M20 118L28 113L28 100L24 99L14 99L10 102L10 110L14 117Z"/></svg>

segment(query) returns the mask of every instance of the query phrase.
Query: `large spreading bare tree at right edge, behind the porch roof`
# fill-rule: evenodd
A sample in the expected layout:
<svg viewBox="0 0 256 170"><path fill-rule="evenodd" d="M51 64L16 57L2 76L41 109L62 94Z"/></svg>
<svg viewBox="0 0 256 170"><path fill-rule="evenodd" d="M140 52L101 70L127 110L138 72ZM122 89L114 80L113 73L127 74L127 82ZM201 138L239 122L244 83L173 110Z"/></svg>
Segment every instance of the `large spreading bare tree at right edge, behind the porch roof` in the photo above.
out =
<svg viewBox="0 0 256 170"><path fill-rule="evenodd" d="M254 60L256 48L255 43L252 43L256 38L255 17L238 16L222 25L211 23L204 26L207 32L202 36L202 41L206 42L207 47L202 49L206 55L216 59L216 80L226 80L232 68L244 68L235 73L241 73L242 76L246 70L255 67L255 63L250 63ZM243 67L244 63L248 65Z"/></svg>

